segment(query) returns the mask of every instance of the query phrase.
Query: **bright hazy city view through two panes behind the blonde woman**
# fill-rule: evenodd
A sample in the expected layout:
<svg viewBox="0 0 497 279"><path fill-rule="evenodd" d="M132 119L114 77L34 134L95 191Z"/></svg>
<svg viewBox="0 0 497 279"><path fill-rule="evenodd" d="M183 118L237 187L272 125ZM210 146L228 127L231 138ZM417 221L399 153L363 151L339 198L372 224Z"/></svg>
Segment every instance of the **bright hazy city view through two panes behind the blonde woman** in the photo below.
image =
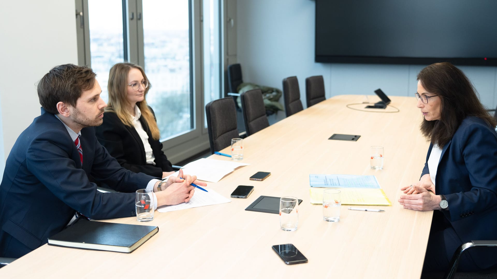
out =
<svg viewBox="0 0 497 279"><path fill-rule="evenodd" d="M193 128L188 9L188 1L143 1L145 73L152 85L146 98L162 139ZM89 0L88 10L91 67L107 102L109 70L124 61L122 1Z"/></svg>

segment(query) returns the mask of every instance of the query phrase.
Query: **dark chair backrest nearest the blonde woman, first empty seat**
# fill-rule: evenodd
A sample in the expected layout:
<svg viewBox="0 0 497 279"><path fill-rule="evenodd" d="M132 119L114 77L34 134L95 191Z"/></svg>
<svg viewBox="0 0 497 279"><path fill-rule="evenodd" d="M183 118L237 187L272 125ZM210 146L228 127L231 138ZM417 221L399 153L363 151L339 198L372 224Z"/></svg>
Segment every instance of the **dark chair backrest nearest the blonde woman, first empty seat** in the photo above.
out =
<svg viewBox="0 0 497 279"><path fill-rule="evenodd" d="M205 114L212 154L231 145L231 139L240 137L237 129L237 109L232 97L208 103L205 105Z"/></svg>

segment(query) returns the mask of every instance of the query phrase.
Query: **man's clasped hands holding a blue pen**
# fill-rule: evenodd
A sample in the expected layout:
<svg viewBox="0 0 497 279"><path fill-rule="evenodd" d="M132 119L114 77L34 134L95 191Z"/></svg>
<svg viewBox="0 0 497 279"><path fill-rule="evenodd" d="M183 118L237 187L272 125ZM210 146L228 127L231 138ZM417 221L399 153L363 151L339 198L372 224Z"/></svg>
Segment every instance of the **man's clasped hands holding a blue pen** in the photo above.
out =
<svg viewBox="0 0 497 279"><path fill-rule="evenodd" d="M196 175L183 175L183 170L180 169L178 176L170 176L167 182L161 185L163 190L155 193L157 196L157 206L187 203L193 197L193 193L195 193L195 187L191 185L192 183L198 186L207 186L207 183L197 180ZM157 184L155 186L156 189Z"/></svg>

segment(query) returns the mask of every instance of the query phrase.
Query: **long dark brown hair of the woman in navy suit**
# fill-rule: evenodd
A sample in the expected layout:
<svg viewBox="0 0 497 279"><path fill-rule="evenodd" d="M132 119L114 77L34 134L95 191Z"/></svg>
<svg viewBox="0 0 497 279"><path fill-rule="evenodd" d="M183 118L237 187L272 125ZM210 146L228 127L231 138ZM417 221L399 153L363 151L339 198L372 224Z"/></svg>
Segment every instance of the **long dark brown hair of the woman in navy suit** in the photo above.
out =
<svg viewBox="0 0 497 279"><path fill-rule="evenodd" d="M442 148L456 133L468 116L485 120L490 127L497 121L486 111L468 77L454 65L432 64L417 74L417 80L428 92L440 97L440 120L421 123L421 132L433 144Z"/></svg>

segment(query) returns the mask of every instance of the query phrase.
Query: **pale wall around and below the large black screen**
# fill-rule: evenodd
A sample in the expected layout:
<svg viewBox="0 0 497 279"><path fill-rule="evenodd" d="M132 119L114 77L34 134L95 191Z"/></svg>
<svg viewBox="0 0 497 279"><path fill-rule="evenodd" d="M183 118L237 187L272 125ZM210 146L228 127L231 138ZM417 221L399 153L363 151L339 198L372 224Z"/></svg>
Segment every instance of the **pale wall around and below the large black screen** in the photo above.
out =
<svg viewBox="0 0 497 279"><path fill-rule="evenodd" d="M296 75L304 108L306 77L323 75L327 98L374 95L378 88L387 95L414 96L416 74L426 66L315 63L313 0L238 0L237 21L237 61L244 81L282 88L283 78ZM497 67L459 68L475 84L482 103L495 109ZM278 112L277 120L284 117Z"/></svg>

